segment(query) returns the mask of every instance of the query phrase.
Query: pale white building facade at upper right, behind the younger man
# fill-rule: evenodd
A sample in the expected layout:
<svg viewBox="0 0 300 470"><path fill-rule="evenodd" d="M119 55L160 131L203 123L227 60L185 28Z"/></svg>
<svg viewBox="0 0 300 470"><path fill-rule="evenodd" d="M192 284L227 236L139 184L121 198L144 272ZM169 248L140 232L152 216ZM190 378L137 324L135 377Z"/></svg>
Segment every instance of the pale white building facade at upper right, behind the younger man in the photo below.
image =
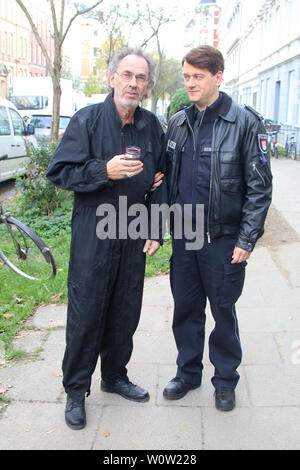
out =
<svg viewBox="0 0 300 470"><path fill-rule="evenodd" d="M225 88L265 118L300 126L299 0L219 0Z"/></svg>

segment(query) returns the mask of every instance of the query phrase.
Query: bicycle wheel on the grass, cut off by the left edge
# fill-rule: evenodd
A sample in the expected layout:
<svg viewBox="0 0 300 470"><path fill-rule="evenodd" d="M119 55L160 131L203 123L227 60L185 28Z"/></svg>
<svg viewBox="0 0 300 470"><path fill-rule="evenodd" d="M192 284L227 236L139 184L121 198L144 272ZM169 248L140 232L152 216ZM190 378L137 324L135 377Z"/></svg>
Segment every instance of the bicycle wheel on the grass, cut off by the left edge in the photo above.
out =
<svg viewBox="0 0 300 470"><path fill-rule="evenodd" d="M8 217L0 228L0 258L10 269L39 281L56 274L49 247L33 230L13 217Z"/></svg>

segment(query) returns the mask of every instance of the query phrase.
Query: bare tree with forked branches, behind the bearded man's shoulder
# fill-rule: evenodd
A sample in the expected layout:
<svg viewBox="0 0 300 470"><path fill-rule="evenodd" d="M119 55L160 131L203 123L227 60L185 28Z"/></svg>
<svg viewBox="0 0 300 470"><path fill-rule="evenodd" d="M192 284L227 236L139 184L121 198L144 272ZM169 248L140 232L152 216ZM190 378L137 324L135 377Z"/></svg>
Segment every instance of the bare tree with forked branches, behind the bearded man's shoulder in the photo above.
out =
<svg viewBox="0 0 300 470"><path fill-rule="evenodd" d="M60 115L60 98L61 98L61 78L62 78L62 46L64 40L69 32L70 27L74 20L81 15L84 15L94 8L96 8L103 0L95 1L94 4L90 7L86 7L84 5L79 5L78 3L74 3L74 14L71 16L69 21L67 22L67 26L64 26L65 22L65 6L66 0L60 0L59 2L55 2L55 0L48 0L51 15L52 15L52 24L53 24L53 39L54 39L54 60L53 63L50 60L50 57L47 53L47 49L42 41L41 36L38 33L36 24L33 20L34 12L29 12L27 7L25 6L25 1L16 0L19 7L23 10L31 28L32 32L41 48L42 54L45 57L45 61L52 79L53 84L53 112L52 112L52 126L51 126L51 142L58 141L58 132L59 132L59 115ZM58 13L58 6L60 7L60 11Z"/></svg>

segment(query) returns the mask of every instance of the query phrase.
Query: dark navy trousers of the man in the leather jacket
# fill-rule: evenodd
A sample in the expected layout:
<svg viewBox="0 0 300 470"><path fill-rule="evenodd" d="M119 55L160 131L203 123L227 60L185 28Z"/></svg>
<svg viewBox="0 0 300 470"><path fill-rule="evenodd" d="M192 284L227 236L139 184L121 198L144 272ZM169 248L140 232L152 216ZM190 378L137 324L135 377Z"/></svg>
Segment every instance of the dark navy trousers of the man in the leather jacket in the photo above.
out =
<svg viewBox="0 0 300 470"><path fill-rule="evenodd" d="M178 349L177 376L200 384L205 340L207 299L215 320L209 337L209 357L215 367L215 388L235 388L242 359L235 303L240 297L246 262L231 264L235 239L224 236L186 251L184 240L173 240L171 289L174 297L173 333Z"/></svg>

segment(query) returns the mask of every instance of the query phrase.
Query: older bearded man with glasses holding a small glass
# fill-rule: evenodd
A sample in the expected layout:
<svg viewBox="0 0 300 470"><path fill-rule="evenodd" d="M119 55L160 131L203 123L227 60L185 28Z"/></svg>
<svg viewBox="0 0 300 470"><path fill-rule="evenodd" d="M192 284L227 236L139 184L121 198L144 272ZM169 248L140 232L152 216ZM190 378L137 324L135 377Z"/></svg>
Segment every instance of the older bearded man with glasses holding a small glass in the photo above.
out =
<svg viewBox="0 0 300 470"><path fill-rule="evenodd" d="M63 359L65 419L72 429L86 425L85 395L99 356L102 391L149 400L146 390L129 381L126 365L140 318L145 255L152 256L161 239L130 238L121 223L115 237L99 237L97 226L99 207L109 204L117 216L124 215L120 196L128 206L163 202L162 180L151 191L162 169L163 131L157 118L139 107L154 73L143 51L118 53L109 66L110 94L73 116L47 173L56 186L74 191ZM138 147L141 157L129 159L128 146Z"/></svg>

